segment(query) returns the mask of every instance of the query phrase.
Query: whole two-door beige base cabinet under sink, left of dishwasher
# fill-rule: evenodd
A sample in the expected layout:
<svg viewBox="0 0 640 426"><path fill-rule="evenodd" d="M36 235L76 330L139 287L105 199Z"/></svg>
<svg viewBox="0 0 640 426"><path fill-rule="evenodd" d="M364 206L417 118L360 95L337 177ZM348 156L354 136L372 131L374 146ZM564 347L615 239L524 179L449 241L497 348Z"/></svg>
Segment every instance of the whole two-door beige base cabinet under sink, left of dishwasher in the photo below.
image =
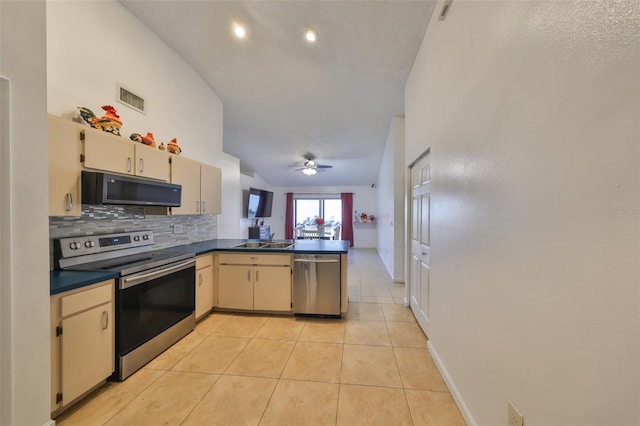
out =
<svg viewBox="0 0 640 426"><path fill-rule="evenodd" d="M225 253L218 262L218 307L291 312L290 255Z"/></svg>

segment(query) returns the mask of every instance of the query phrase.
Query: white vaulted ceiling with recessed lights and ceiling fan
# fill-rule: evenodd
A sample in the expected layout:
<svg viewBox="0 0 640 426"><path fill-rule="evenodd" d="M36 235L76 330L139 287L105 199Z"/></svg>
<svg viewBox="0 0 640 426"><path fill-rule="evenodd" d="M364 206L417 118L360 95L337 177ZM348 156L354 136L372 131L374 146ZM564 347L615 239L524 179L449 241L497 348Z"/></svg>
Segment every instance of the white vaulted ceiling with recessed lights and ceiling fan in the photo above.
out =
<svg viewBox="0 0 640 426"><path fill-rule="evenodd" d="M224 151L272 186L377 181L433 0L120 0L224 105ZM233 23L247 37L232 34ZM307 27L318 32L309 44ZM306 176L306 154L332 165Z"/></svg>

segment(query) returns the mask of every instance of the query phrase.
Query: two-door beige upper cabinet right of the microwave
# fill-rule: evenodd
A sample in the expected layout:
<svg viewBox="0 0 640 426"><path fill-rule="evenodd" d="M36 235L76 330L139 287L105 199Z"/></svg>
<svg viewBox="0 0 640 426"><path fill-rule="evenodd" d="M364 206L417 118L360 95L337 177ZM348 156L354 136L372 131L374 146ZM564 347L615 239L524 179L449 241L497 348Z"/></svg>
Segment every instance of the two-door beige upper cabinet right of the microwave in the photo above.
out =
<svg viewBox="0 0 640 426"><path fill-rule="evenodd" d="M182 205L172 214L219 214L222 211L222 172L184 157L171 157L171 183L182 185Z"/></svg>

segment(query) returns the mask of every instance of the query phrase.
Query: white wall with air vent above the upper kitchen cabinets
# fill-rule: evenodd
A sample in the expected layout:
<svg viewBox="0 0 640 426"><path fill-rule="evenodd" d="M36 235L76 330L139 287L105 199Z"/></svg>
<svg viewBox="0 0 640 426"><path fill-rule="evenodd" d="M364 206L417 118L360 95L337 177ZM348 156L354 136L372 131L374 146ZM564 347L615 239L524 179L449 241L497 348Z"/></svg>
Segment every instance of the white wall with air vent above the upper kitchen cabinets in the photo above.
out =
<svg viewBox="0 0 640 426"><path fill-rule="evenodd" d="M218 236L237 237L239 161L222 152L222 102L190 65L112 1L48 2L47 60L49 113L71 118L85 106L103 115L110 104L123 138L152 132L166 145L175 137L182 156L220 167ZM145 97L146 115L117 102L118 83Z"/></svg>

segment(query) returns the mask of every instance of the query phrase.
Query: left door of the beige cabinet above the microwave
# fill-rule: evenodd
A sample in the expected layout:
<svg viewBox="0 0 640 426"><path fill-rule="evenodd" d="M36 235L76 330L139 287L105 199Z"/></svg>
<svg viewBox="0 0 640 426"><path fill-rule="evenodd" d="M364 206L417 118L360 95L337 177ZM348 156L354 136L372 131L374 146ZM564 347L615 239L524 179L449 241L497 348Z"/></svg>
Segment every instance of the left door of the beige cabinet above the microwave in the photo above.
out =
<svg viewBox="0 0 640 426"><path fill-rule="evenodd" d="M84 130L84 166L132 175L135 171L133 142L91 128Z"/></svg>

